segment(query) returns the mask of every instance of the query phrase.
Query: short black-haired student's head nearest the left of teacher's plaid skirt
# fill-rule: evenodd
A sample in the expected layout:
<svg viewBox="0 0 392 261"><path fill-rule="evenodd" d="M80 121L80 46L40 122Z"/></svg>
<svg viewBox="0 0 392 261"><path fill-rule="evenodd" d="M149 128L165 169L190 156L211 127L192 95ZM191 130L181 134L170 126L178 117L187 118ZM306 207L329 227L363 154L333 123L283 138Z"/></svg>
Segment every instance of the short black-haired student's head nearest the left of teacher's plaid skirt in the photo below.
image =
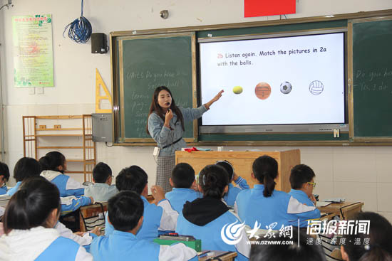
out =
<svg viewBox="0 0 392 261"><path fill-rule="evenodd" d="M148 176L140 166L130 166L120 171L115 178L118 191L135 191L139 195L147 193Z"/></svg>

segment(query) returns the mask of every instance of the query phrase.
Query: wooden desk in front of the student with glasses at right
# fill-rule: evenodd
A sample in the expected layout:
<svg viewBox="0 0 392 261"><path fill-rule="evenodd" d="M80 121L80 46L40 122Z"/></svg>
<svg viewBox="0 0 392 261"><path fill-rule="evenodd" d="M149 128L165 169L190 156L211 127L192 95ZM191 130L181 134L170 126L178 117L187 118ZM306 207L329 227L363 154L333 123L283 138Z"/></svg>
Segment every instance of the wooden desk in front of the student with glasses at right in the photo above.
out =
<svg viewBox="0 0 392 261"><path fill-rule="evenodd" d="M341 220L348 220L362 210L363 202L331 203L328 206L318 207L321 213L333 213L339 215Z"/></svg>

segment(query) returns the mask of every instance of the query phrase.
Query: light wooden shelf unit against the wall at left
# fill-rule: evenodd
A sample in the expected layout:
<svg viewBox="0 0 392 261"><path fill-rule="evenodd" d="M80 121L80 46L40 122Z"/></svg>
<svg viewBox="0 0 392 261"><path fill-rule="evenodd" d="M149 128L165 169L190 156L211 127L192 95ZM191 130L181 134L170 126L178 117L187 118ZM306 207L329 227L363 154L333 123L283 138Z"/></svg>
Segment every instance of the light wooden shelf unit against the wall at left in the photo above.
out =
<svg viewBox="0 0 392 261"><path fill-rule="evenodd" d="M80 169L66 170L66 174L83 174L84 181L92 181L96 143L91 114L23 116L23 142L24 156L38 160L48 151L60 151L67 163L83 164L83 169L78 166Z"/></svg>

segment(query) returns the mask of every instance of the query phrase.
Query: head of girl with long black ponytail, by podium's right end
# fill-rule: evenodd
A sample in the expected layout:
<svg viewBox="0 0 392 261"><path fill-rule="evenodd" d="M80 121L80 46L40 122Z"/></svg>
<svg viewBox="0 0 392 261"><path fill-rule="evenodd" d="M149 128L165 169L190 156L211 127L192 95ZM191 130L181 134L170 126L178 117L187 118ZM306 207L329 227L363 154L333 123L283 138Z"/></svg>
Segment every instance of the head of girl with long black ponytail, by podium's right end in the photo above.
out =
<svg viewBox="0 0 392 261"><path fill-rule="evenodd" d="M278 176L277 161L271 156L259 156L253 161L252 171L252 176L260 184L264 184L264 197L271 196L276 184L274 179L277 179Z"/></svg>

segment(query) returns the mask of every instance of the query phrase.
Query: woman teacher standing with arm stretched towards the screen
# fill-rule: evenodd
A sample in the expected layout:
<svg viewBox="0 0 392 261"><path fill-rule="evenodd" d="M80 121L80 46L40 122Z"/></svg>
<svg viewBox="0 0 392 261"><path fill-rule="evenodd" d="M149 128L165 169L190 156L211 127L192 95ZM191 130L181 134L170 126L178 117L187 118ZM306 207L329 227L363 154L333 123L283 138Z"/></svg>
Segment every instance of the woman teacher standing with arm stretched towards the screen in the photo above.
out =
<svg viewBox="0 0 392 261"><path fill-rule="evenodd" d="M210 110L212 103L222 96L223 90L198 108L182 108L175 105L172 92L165 87L157 87L148 113L147 133L153 137L160 148L157 161L157 179L155 184L166 192L172 190L170 175L175 166L175 151L187 147L182 134L185 132L184 122L202 117Z"/></svg>

